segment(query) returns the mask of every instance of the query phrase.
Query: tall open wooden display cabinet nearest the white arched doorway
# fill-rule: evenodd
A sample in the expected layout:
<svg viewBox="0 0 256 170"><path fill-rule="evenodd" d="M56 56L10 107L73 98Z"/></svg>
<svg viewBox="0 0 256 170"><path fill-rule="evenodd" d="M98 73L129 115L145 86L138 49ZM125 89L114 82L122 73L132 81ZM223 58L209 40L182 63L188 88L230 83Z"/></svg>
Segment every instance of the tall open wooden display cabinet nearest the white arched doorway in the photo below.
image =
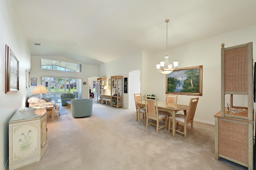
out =
<svg viewBox="0 0 256 170"><path fill-rule="evenodd" d="M123 107L123 76L111 76L111 106Z"/></svg>

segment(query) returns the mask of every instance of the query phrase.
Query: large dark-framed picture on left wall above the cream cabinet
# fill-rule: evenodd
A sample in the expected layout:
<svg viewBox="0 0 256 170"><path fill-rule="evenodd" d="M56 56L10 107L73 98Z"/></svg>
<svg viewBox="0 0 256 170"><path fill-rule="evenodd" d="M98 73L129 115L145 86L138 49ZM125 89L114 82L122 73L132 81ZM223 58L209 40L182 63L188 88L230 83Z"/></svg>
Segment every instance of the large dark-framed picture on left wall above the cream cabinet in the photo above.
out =
<svg viewBox="0 0 256 170"><path fill-rule="evenodd" d="M8 45L5 49L5 93L15 93L19 91L19 61Z"/></svg>

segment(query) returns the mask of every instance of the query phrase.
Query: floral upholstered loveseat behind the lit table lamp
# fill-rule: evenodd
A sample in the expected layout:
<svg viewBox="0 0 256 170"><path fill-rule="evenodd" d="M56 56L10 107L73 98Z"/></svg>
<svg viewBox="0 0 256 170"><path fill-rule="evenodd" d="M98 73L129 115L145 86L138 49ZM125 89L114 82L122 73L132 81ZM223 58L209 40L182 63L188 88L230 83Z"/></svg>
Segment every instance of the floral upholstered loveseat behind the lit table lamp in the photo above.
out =
<svg viewBox="0 0 256 170"><path fill-rule="evenodd" d="M56 104L56 102L54 102L54 100L51 101L45 101L47 99L42 98L42 104L43 106L54 106L53 107L53 116L60 116L60 106ZM37 95L31 95L28 98L28 107L36 107L40 105L40 101L39 101L39 96ZM47 117L50 117L50 114L47 114Z"/></svg>

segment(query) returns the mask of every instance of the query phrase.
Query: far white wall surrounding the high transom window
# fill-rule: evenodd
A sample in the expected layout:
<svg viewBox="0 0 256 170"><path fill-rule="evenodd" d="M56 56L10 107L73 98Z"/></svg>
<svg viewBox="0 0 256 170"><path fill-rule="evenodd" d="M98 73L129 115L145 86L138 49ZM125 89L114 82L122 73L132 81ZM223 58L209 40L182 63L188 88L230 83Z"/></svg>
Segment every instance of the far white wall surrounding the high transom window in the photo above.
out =
<svg viewBox="0 0 256 170"><path fill-rule="evenodd" d="M99 66L92 66L88 64L82 64L82 72L64 72L60 70L46 70L40 69L40 58L50 59L56 61L64 61L70 63L79 63L72 59L63 56L32 56L31 57L31 77L40 80L40 77L66 77L66 78L79 78L82 82L87 82L86 85L82 85L82 98L89 98L89 82L88 78L93 76L99 76ZM37 83L40 84L38 81ZM34 87L31 87L34 90ZM32 91L31 91L32 92Z"/></svg>

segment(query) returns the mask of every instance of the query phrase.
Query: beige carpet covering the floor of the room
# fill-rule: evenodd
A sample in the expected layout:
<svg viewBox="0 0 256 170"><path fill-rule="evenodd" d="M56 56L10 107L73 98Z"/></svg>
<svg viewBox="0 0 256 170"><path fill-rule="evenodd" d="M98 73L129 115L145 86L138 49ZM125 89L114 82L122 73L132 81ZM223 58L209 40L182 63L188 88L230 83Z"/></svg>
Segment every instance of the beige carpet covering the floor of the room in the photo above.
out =
<svg viewBox="0 0 256 170"><path fill-rule="evenodd" d="M194 123L194 135L135 120L135 109L97 104L91 117L75 119L67 106L48 118L48 150L41 162L20 170L245 170L223 158L214 159L214 125ZM213 115L212 115L213 116Z"/></svg>

